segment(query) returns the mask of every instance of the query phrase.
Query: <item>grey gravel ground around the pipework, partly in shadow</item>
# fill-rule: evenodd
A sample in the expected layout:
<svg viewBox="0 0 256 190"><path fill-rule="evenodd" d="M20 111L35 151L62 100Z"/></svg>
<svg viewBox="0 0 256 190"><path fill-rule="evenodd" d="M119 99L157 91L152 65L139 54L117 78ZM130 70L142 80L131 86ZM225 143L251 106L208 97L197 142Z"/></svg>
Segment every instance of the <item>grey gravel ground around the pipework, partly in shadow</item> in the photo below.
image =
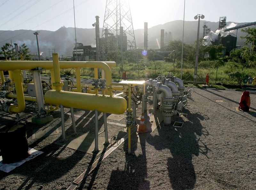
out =
<svg viewBox="0 0 256 190"><path fill-rule="evenodd" d="M77 189L256 189L256 93L250 94L251 112L236 111L241 94L195 89L188 101L191 108L183 108L187 118L172 117L171 125L161 123L145 141L132 141L132 154L127 154L128 143L124 141ZM74 111L93 117L93 112ZM137 115L140 113L138 109ZM61 139L60 112L53 116L54 121L45 126L28 119L29 147L44 153L9 173L0 171L0 189L67 189L99 158L54 144ZM103 119L102 114L99 118ZM1 126L14 119L15 115L1 112ZM94 133L93 120L75 119L79 133ZM65 115L65 121L71 123L70 115ZM172 127L175 121L184 122L183 127ZM117 122L125 124L126 120ZM47 126L59 128L60 134L32 139L33 130ZM112 144L123 129L108 125ZM68 126L69 134L72 127Z"/></svg>

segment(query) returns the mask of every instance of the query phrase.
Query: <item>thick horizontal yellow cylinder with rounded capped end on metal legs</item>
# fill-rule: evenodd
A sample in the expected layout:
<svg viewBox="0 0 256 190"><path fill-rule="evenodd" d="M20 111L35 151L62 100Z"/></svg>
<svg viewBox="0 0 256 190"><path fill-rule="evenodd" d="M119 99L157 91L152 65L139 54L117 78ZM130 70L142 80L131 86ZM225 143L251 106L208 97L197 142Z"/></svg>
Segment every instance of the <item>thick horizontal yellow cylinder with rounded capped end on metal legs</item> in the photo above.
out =
<svg viewBox="0 0 256 190"><path fill-rule="evenodd" d="M80 92L49 90L44 95L47 104L63 105L84 110L122 114L126 110L127 102L118 96L103 96Z"/></svg>

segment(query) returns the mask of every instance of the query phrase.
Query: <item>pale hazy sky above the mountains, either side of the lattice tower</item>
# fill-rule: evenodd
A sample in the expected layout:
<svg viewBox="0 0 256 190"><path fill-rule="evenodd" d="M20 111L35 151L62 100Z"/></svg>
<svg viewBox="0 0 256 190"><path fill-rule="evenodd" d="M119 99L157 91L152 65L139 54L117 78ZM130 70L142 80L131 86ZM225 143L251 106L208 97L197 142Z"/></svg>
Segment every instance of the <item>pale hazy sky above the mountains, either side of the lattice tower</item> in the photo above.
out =
<svg viewBox="0 0 256 190"><path fill-rule="evenodd" d="M93 28L95 16L103 26L107 0L75 0L77 28ZM256 0L186 0L185 20L204 14L205 21L255 22ZM133 28L148 28L183 20L184 0L130 0ZM51 30L74 27L73 0L0 0L0 30Z"/></svg>

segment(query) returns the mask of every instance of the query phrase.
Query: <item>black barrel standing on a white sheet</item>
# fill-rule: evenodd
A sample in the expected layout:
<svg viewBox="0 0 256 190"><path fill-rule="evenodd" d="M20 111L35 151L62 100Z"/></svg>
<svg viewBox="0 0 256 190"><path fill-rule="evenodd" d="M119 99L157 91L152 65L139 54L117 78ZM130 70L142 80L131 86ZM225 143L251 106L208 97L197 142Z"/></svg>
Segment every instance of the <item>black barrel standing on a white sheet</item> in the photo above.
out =
<svg viewBox="0 0 256 190"><path fill-rule="evenodd" d="M4 164L19 162L29 156L24 123L0 129L0 150Z"/></svg>

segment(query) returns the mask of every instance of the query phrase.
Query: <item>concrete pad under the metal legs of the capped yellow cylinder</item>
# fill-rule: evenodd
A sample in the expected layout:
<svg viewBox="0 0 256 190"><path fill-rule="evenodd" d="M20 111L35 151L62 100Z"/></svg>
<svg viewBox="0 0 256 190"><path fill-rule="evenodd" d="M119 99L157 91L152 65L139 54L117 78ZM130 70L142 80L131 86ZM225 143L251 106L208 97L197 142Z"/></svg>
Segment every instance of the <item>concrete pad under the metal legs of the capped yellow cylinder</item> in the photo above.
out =
<svg viewBox="0 0 256 190"><path fill-rule="evenodd" d="M68 135L66 136L66 142L62 143L60 141L55 142L55 144L58 144L60 146L65 146L70 149L74 150L79 150L81 152L86 152L88 154L96 154L93 153L92 151L94 150L95 147L95 136L94 134L79 134L76 136L73 135ZM110 140L108 140L110 142ZM106 150L111 144L109 145L104 145L105 143L105 138L103 137L98 137L98 148L100 151L97 153L97 155L101 154L102 151Z"/></svg>

